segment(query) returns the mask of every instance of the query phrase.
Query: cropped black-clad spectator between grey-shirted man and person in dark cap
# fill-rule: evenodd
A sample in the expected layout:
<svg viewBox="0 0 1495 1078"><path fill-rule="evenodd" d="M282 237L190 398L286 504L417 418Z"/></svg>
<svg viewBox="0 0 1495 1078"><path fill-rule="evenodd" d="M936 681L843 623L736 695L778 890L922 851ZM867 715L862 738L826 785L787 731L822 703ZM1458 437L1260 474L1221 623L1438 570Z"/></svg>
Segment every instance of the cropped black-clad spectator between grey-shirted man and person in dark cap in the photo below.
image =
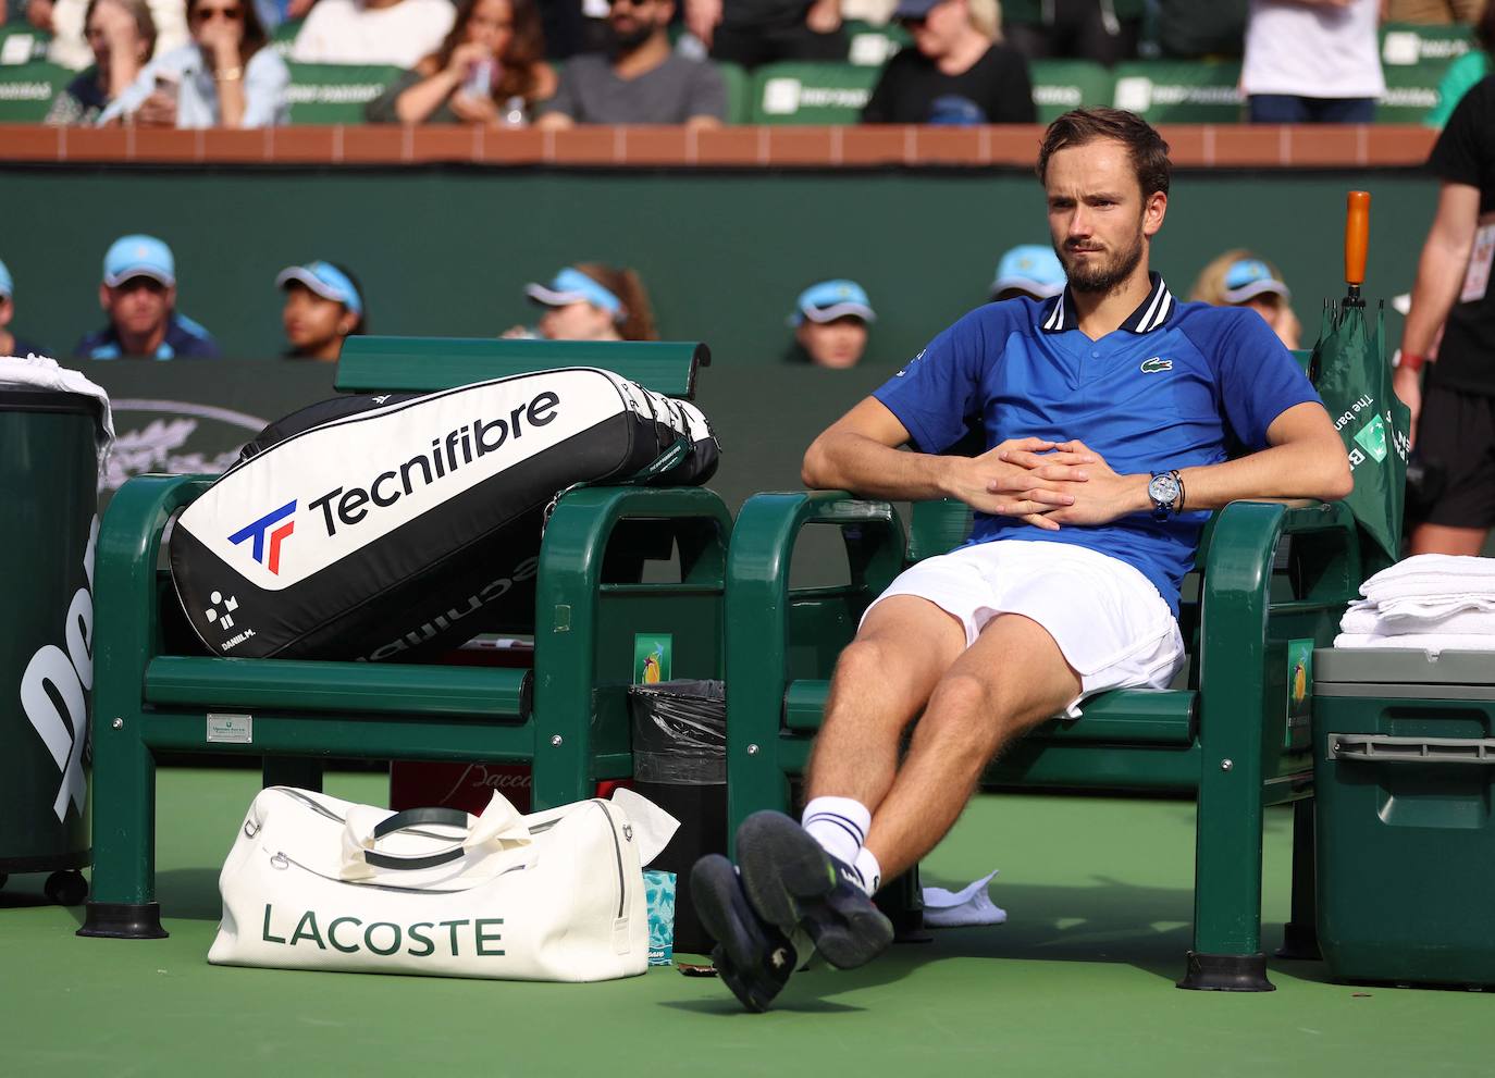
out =
<svg viewBox="0 0 1495 1078"><path fill-rule="evenodd" d="M685 0L685 25L713 60L845 60L840 0Z"/></svg>

